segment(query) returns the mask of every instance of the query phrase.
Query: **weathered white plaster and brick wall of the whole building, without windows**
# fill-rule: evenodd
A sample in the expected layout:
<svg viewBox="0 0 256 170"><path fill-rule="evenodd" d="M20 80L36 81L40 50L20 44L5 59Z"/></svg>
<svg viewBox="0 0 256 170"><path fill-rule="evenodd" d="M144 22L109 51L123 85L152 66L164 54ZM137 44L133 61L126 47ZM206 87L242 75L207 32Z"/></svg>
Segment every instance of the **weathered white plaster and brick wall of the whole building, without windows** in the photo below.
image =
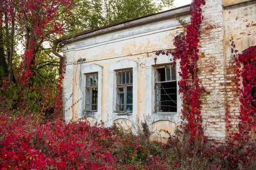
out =
<svg viewBox="0 0 256 170"><path fill-rule="evenodd" d="M240 4L225 8L230 4ZM178 10L188 11L189 7ZM239 52L256 45L256 3L247 4L246 0L206 0L203 6L204 20L201 24L201 42L199 44L200 79L206 92L202 99L202 116L205 135L216 142L227 136L225 128L225 112L233 115L233 130L238 124L239 100L234 84L234 65L229 40L233 38ZM167 14L163 13L163 14ZM152 16L145 17L151 18ZM178 19L190 22L190 14L163 17L151 22L142 22L117 29L119 25L105 28L96 34L66 41L63 49L66 73L63 82L64 116L67 121L76 121L83 117L83 70L89 65L102 69L101 111L87 115L102 121L105 126L113 122L120 125L136 126L148 122L159 136L159 130L174 132L180 122L180 108L176 114L156 113L154 102L154 58L156 64L170 64L169 56L156 56L156 51L174 49L174 37L183 31ZM140 19L141 20L141 19ZM132 23L134 21L131 21ZM121 24L120 24L121 25ZM111 29L113 30L111 31ZM108 30L109 29L109 30ZM86 59L79 62L79 59ZM116 64L119 63L119 64ZM127 67L125 66L127 63ZM177 63L177 71L179 64ZM115 113L115 71L132 69L136 73L133 83L133 113ZM178 80L178 76L177 76ZM135 97L136 96L136 97ZM180 96L178 96L180 100ZM162 136L164 134L161 134Z"/></svg>

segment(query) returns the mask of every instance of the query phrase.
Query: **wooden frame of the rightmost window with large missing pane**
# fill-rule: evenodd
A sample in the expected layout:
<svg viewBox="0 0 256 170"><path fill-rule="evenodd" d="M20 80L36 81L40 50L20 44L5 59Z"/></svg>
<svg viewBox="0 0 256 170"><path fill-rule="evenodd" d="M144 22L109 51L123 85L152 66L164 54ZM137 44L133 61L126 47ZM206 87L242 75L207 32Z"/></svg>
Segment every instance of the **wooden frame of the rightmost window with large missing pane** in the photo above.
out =
<svg viewBox="0 0 256 170"><path fill-rule="evenodd" d="M157 76L159 76L159 73L158 73L158 69L161 69L161 68L165 68L165 80L166 80L166 68L170 68L170 79L171 80L167 80L167 81L157 81ZM171 68L174 68L175 70L175 80L172 80L172 69ZM161 84L161 83L170 83L170 82L176 82L176 98L178 99L178 93L177 93L177 71L176 71L176 64L175 63L172 63L172 64L165 64L165 65L157 65L157 66L154 66L154 94L155 94L155 113L177 113L177 111L175 112L164 112L164 111L161 111L160 110L160 107L161 107L161 100L159 98L159 93L157 94L157 84ZM176 100L176 110L177 110L177 107L178 107L178 103L177 103L177 100Z"/></svg>

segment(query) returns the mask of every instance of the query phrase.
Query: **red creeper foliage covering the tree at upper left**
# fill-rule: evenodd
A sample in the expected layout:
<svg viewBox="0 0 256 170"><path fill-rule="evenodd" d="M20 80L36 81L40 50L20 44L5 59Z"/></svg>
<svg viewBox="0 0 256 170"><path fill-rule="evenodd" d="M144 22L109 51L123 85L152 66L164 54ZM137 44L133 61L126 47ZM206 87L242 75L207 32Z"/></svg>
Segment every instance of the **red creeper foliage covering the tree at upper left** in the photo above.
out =
<svg viewBox="0 0 256 170"><path fill-rule="evenodd" d="M35 55L39 46L45 40L51 40L53 35L62 34L63 23L59 16L61 6L67 16L73 0L2 0L0 1L0 17L6 14L5 22L20 24L26 35L26 49L23 55L21 84L26 86L33 75ZM0 23L3 20L0 20ZM19 71L20 72L20 71Z"/></svg>

